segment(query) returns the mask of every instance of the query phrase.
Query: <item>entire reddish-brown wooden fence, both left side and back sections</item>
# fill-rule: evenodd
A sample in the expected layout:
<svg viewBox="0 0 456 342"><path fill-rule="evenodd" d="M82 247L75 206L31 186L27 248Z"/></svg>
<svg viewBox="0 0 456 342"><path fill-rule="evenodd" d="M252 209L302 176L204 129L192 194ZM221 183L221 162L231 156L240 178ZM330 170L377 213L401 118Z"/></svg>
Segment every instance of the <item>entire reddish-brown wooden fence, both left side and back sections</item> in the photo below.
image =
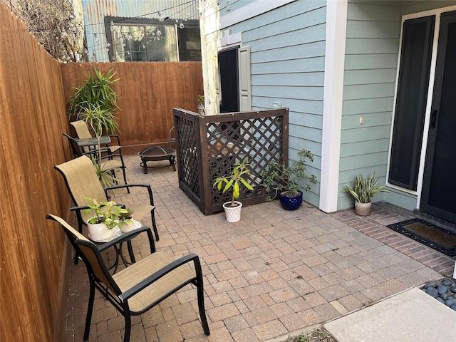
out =
<svg viewBox="0 0 456 342"><path fill-rule="evenodd" d="M3 2L0 32L1 341L65 341L71 247L45 216L71 219L53 166L71 158L66 100L93 64L58 63ZM195 110L202 93L201 63L97 67L121 78L121 138L135 151L167 142L172 107Z"/></svg>

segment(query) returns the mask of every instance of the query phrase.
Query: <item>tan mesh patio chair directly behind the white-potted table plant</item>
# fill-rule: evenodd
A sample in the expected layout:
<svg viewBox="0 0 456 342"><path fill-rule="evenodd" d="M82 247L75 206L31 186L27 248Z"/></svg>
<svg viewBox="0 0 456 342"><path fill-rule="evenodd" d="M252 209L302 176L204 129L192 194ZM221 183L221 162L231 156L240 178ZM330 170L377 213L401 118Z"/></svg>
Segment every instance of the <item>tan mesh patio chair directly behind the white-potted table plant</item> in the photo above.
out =
<svg viewBox="0 0 456 342"><path fill-rule="evenodd" d="M70 192L71 199L73 199L73 203L76 205L76 207L71 208L71 210L76 211L76 217L78 218L78 230L81 234L83 232L83 225L87 224L86 222L91 216L90 213L84 213L85 209L88 208L87 197L95 198L98 199L98 201L103 202L108 200L107 192L109 190L141 187L147 190L150 204L133 204L128 205L128 208L135 212L135 219L138 221L150 213L155 239L158 241L159 237L157 224L155 223L155 206L152 188L150 185L125 184L103 188L98 180L92 160L90 160L86 155L64 162L61 165L56 165L54 168L63 175L63 179L66 182L66 187L68 192Z"/></svg>

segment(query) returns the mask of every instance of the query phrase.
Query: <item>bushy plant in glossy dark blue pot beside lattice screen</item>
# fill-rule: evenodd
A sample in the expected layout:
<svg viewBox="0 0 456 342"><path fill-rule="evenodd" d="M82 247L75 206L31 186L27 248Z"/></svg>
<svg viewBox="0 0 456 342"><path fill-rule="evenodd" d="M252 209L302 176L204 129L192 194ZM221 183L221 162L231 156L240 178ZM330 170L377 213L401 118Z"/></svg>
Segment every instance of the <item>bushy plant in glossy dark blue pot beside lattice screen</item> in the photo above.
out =
<svg viewBox="0 0 456 342"><path fill-rule="evenodd" d="M301 150L298 157L299 159L291 162L289 167L276 161L269 162L266 169L260 173L263 178L261 185L275 191L275 195L267 197L266 200L271 201L279 195L280 203L286 210L296 210L301 206L303 192L299 189L309 191L309 182L316 184L314 175L306 175L306 160L313 162L314 155L309 150ZM304 187L301 186L303 180L306 181Z"/></svg>

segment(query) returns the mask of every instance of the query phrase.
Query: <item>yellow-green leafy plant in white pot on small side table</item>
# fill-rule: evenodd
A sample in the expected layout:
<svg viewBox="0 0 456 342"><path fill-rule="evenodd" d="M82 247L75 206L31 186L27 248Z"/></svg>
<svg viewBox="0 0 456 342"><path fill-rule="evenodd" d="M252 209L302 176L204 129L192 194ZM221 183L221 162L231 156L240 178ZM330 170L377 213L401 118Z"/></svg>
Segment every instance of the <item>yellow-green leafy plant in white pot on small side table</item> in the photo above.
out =
<svg viewBox="0 0 456 342"><path fill-rule="evenodd" d="M102 241L113 236L113 228L119 225L119 214L127 210L114 201L98 202L97 199L88 199L88 209L84 214L92 214L87 221L88 234L93 241Z"/></svg>

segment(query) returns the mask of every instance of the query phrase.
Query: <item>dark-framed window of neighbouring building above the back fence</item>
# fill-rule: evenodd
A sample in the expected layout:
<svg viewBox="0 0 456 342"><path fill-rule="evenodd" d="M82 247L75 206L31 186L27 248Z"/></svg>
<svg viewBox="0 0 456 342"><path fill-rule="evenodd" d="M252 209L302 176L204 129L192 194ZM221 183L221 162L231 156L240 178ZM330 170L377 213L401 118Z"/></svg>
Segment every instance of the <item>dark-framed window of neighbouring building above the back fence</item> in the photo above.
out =
<svg viewBox="0 0 456 342"><path fill-rule="evenodd" d="M105 17L110 61L201 61L199 24L184 23Z"/></svg>

